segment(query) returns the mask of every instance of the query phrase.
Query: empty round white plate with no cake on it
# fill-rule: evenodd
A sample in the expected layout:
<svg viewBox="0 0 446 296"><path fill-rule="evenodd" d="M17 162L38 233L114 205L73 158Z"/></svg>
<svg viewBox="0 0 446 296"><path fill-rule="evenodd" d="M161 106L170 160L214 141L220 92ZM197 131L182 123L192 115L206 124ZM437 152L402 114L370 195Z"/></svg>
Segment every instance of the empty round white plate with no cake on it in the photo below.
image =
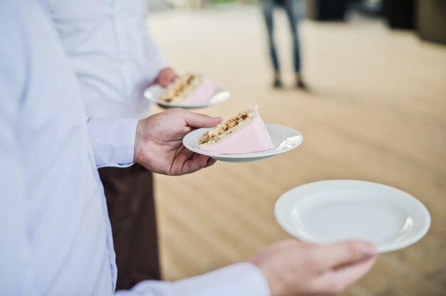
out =
<svg viewBox="0 0 446 296"><path fill-rule="evenodd" d="M405 248L430 227L427 208L410 194L383 184L354 180L297 186L276 202L286 232L313 243L363 239L380 253Z"/></svg>

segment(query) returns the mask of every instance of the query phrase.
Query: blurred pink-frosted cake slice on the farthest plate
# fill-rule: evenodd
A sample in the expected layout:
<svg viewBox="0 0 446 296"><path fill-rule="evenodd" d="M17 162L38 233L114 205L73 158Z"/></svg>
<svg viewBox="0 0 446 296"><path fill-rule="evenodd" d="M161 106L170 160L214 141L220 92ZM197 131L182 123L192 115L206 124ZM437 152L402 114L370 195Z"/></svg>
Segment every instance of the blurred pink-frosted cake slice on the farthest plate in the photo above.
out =
<svg viewBox="0 0 446 296"><path fill-rule="evenodd" d="M195 73L186 73L167 88L160 100L195 105L209 101L214 93L215 87L209 78Z"/></svg>

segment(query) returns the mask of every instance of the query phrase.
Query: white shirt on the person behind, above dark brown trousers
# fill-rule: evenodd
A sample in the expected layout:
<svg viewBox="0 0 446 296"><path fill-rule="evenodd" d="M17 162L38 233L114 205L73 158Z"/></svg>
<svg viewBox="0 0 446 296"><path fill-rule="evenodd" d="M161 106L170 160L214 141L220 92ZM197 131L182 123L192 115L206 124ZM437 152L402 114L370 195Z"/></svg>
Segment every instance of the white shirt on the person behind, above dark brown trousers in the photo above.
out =
<svg viewBox="0 0 446 296"><path fill-rule="evenodd" d="M147 32L147 0L43 0L78 75L87 113L144 118L142 96L167 67Z"/></svg>

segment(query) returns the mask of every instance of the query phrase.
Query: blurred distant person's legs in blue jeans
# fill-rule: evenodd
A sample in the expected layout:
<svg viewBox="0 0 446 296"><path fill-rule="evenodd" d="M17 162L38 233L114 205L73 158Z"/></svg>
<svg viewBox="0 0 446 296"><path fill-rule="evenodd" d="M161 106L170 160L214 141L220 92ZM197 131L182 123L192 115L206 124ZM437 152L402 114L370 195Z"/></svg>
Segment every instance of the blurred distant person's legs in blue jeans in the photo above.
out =
<svg viewBox="0 0 446 296"><path fill-rule="evenodd" d="M294 71L296 73L296 87L306 90L306 83L301 73L301 51L299 48L299 20L304 13L302 0L261 0L266 29L268 31L269 51L274 68L274 88L281 88L282 80L280 74L279 56L277 55L276 43L274 42L274 9L281 6L285 9L291 27L291 38L293 40Z"/></svg>

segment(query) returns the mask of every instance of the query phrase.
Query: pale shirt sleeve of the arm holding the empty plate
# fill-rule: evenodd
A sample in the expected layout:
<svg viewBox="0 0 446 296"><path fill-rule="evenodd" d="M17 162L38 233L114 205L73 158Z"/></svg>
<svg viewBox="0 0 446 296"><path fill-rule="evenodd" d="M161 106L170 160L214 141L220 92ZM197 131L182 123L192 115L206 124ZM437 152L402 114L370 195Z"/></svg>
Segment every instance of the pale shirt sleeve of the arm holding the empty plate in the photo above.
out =
<svg viewBox="0 0 446 296"><path fill-rule="evenodd" d="M269 287L259 268L238 263L211 273L177 282L147 280L115 296L269 296Z"/></svg>

